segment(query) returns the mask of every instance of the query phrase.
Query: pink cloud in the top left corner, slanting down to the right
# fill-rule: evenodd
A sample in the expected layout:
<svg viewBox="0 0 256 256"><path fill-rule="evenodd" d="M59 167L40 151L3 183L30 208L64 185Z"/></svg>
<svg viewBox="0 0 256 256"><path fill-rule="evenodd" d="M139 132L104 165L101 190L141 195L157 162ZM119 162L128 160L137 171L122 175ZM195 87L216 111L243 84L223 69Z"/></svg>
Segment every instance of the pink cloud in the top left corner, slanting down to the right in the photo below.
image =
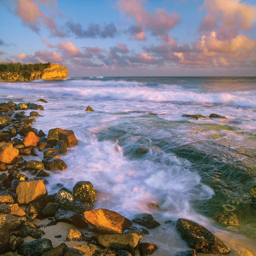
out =
<svg viewBox="0 0 256 256"><path fill-rule="evenodd" d="M51 17L47 17L41 10L39 4L45 5L47 10L51 12ZM49 29L54 36L63 37L64 33L61 32L55 23L54 14L52 9L57 8L57 2L54 0L15 0L15 11L23 21L23 23L30 27L35 32L39 32L39 26L42 24Z"/></svg>

